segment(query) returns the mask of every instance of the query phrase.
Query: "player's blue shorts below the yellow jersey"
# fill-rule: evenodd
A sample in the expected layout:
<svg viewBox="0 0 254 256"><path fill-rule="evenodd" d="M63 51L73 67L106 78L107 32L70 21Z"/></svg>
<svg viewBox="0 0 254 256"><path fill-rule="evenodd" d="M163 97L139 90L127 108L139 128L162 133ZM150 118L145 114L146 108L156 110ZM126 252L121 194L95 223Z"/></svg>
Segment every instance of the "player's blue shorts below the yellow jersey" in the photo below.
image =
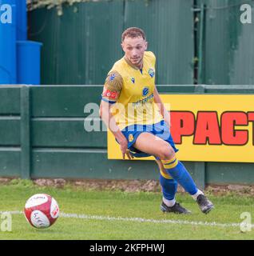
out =
<svg viewBox="0 0 254 256"><path fill-rule="evenodd" d="M153 125L127 126L125 127L125 129L121 130L121 132L128 140L128 149L130 151L130 154L132 154L135 158L144 158L151 156L151 154L147 154L145 152L142 152L141 150L137 150L133 146L133 144L137 140L137 137L143 132L147 132L156 135L159 138L162 138L163 140L165 140L165 142L169 142L170 146L173 147L173 150L175 150L175 152L178 151L169 132L169 126L166 122L164 122L164 120L161 120L161 122L157 122Z"/></svg>

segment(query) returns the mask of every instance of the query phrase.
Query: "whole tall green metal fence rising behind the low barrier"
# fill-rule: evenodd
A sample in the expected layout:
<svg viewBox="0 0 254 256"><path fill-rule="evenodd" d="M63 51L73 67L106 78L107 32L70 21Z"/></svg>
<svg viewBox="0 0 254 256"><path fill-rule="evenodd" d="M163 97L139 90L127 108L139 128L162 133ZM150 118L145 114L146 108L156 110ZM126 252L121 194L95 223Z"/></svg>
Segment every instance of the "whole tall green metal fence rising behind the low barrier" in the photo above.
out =
<svg viewBox="0 0 254 256"><path fill-rule="evenodd" d="M246 0L114 0L29 13L29 38L43 42L42 84L102 84L121 58L121 33L145 30L157 84L254 84L254 22ZM253 15L252 15L253 16Z"/></svg>

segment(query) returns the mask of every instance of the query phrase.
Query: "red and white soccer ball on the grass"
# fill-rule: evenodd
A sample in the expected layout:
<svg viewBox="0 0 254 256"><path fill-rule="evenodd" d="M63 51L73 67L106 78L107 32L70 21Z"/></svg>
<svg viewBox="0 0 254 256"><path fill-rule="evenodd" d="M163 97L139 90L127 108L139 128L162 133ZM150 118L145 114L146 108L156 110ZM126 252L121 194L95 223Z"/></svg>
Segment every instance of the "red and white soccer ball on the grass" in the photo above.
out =
<svg viewBox="0 0 254 256"><path fill-rule="evenodd" d="M58 219L58 202L49 194L34 194L26 201L24 214L32 226L47 228Z"/></svg>

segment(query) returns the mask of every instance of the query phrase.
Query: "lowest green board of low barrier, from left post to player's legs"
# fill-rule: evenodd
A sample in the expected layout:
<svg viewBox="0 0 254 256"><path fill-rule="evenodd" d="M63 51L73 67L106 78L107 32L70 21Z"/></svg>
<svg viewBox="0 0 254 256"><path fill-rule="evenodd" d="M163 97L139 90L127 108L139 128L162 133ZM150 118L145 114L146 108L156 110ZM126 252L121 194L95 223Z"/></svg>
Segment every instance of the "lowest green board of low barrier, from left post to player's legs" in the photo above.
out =
<svg viewBox="0 0 254 256"><path fill-rule="evenodd" d="M33 150L32 178L157 179L153 161L108 160L106 150ZM188 163L188 166L193 166ZM54 166L54 167L53 167Z"/></svg>

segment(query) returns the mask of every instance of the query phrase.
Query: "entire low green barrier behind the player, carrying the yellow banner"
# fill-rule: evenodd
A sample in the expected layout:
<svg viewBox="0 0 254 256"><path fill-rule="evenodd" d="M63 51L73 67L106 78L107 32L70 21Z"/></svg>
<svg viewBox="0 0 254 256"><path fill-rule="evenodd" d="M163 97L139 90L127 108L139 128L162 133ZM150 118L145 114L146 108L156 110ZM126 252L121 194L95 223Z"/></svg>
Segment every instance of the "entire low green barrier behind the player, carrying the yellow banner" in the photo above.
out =
<svg viewBox="0 0 254 256"><path fill-rule="evenodd" d="M154 161L108 160L105 131L84 129L99 122L102 86L0 86L0 176L21 178L157 179ZM163 94L253 94L254 86L158 86ZM90 119L85 119L88 117ZM253 184L252 163L185 162L199 186Z"/></svg>

